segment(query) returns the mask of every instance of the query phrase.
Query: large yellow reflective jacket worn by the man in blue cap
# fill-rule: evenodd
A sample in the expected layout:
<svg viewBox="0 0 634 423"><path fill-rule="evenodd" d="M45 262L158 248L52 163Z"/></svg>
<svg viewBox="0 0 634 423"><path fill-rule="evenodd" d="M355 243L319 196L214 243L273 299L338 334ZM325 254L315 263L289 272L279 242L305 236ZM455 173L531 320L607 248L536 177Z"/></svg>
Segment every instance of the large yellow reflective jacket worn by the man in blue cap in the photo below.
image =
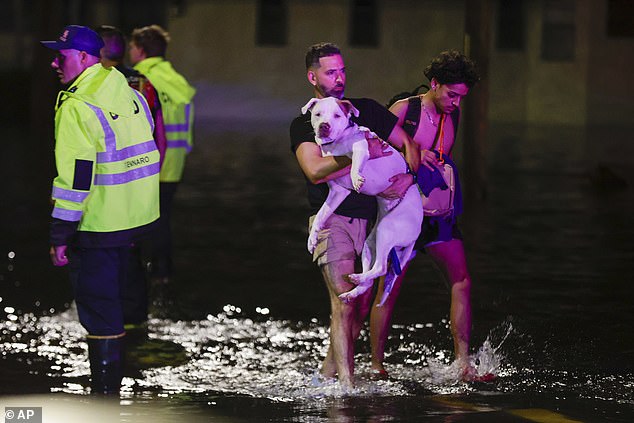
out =
<svg viewBox="0 0 634 423"><path fill-rule="evenodd" d="M96 64L60 92L55 114L52 216L79 231L114 232L159 216L159 153L143 96Z"/></svg>

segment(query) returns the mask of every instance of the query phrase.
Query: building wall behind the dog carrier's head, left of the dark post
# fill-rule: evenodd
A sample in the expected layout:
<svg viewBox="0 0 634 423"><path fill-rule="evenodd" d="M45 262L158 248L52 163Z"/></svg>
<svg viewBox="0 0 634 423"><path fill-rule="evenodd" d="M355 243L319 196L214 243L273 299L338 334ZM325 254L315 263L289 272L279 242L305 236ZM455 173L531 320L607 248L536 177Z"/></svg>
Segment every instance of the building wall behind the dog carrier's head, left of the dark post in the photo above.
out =
<svg viewBox="0 0 634 423"><path fill-rule="evenodd" d="M288 119L312 95L304 65L311 44L331 41L342 49L348 96L386 103L426 82L422 71L433 55L462 48L463 7L458 0L383 1L378 48L357 48L348 43L347 2L289 1L288 44L260 47L256 1L192 0L184 16L169 22L168 55L199 87L206 116L244 118L252 112Z"/></svg>

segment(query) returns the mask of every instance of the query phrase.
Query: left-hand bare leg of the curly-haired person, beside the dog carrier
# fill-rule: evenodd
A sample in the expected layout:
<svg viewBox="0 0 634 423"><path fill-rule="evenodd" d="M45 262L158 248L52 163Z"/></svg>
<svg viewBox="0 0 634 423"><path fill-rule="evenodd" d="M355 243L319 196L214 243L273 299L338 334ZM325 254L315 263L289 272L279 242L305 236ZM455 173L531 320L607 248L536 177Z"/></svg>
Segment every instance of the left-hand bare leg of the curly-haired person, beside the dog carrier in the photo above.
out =
<svg viewBox="0 0 634 423"><path fill-rule="evenodd" d="M387 343L388 335L392 327L392 313L394 312L394 306L398 294L401 292L401 284L405 278L405 273L409 264L406 265L401 274L394 281L392 292L387 297L385 304L381 307L377 307L383 296L383 282L385 277L379 279L379 288L374 298L374 304L372 311L370 312L370 345L372 348L372 369L377 371L384 371L383 360L385 358L385 344Z"/></svg>

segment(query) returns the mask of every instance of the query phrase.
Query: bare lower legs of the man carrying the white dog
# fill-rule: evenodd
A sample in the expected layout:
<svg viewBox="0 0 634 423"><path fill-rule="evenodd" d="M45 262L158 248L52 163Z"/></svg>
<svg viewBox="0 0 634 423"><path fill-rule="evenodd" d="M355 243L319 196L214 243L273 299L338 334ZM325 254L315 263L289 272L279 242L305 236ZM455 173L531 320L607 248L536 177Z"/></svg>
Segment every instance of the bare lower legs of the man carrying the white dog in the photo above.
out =
<svg viewBox="0 0 634 423"><path fill-rule="evenodd" d="M370 292L344 303L339 294L354 285L344 280L344 275L354 272L353 260L339 260L321 267L330 296L330 346L321 367L321 374L333 377L335 373L343 386L354 386L354 341L359 336L367 315Z"/></svg>

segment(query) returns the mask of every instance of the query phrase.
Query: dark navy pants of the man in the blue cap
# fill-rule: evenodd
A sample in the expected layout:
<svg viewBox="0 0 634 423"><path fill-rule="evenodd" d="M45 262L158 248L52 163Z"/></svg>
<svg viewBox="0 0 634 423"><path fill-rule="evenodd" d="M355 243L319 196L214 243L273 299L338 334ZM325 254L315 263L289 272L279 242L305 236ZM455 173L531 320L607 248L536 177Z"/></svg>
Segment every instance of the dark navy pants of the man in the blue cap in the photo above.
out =
<svg viewBox="0 0 634 423"><path fill-rule="evenodd" d="M69 270L77 314L89 335L124 332L121 292L129 260L129 246L71 249Z"/></svg>

